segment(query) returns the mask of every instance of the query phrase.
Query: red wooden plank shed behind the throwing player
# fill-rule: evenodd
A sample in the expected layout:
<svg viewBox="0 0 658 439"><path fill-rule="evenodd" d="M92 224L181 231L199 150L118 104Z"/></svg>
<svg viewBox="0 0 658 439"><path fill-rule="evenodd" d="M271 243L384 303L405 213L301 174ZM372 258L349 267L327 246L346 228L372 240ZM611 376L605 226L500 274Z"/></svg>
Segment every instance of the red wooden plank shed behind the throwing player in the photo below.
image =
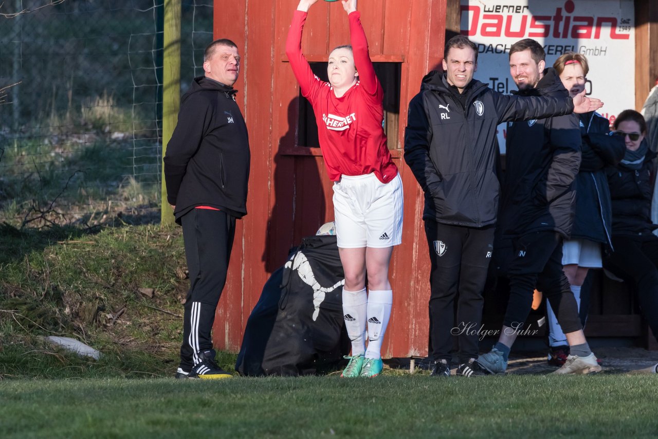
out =
<svg viewBox="0 0 658 439"><path fill-rule="evenodd" d="M249 127L249 214L239 221L215 324L218 348L240 348L249 313L269 274L286 261L303 236L333 220L331 182L320 149L309 147L304 105L288 65L285 41L297 0L238 0L215 6L215 37L233 39L243 55L238 101ZM452 2L455 3L455 2ZM378 68L399 75L388 84L399 105L387 116L389 147L405 188L403 244L393 252L393 315L385 357L426 355L428 258L420 213L422 193L403 166L402 144L409 99L420 80L442 59L446 0L365 0L361 21ZM457 3L458 7L458 3ZM453 23L459 26L458 9ZM324 62L337 45L349 43L340 2L316 3L309 13L302 49L309 62ZM301 111L300 111L301 110ZM300 116L300 113L302 115ZM309 127L312 130L312 126Z"/></svg>

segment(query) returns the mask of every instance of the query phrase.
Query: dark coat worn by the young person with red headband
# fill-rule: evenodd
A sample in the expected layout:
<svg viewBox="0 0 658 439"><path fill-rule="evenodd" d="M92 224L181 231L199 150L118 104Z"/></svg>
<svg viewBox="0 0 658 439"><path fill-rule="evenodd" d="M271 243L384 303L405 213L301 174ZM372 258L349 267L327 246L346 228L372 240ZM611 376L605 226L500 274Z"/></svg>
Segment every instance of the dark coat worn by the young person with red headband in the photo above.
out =
<svg viewBox="0 0 658 439"><path fill-rule="evenodd" d="M609 135L610 122L592 111L580 118L582 159L576 175L576 217L571 239L586 239L612 245L612 205L605 167L624 158L626 145Z"/></svg>

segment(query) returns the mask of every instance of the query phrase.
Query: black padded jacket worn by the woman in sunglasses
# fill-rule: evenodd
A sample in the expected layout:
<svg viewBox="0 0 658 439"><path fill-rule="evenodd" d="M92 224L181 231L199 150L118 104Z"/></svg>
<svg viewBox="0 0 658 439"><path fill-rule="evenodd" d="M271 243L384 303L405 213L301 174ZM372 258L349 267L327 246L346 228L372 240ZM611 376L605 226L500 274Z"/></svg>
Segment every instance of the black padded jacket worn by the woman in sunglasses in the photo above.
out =
<svg viewBox="0 0 658 439"><path fill-rule="evenodd" d="M623 163L605 169L613 201L614 236L641 239L658 227L651 222L654 157L656 153L647 151L642 168L638 170L627 168Z"/></svg>

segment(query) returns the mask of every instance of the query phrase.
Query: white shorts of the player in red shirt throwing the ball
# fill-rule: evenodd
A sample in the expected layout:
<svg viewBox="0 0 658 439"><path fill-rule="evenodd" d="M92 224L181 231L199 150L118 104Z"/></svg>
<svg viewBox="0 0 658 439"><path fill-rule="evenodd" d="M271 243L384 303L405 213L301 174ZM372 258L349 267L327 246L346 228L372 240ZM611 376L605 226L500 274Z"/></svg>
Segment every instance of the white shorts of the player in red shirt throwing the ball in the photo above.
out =
<svg viewBox="0 0 658 439"><path fill-rule="evenodd" d="M382 183L374 174L334 183L338 247L392 247L402 242L402 179Z"/></svg>

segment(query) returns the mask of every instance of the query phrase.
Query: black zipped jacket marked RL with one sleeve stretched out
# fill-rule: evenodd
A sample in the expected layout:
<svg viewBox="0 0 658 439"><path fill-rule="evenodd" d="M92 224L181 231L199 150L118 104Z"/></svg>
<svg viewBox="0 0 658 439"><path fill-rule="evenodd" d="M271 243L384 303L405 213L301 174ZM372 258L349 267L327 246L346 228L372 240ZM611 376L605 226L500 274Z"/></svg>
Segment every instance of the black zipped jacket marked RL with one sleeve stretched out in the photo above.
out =
<svg viewBox="0 0 658 439"><path fill-rule="evenodd" d="M449 87L440 72L423 78L420 93L409 103L405 161L424 191L423 219L488 226L498 211L497 125L566 115L573 103L568 96L503 95L472 80L462 105Z"/></svg>

